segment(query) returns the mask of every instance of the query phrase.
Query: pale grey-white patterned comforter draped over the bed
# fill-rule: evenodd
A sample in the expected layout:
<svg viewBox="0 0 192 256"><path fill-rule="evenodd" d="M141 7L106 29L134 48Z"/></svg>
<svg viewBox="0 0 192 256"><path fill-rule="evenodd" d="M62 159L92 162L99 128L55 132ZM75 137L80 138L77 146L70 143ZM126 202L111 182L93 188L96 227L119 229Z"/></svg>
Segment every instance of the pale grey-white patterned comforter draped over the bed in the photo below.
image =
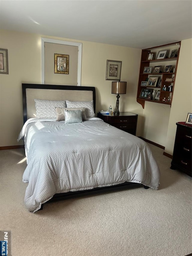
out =
<svg viewBox="0 0 192 256"><path fill-rule="evenodd" d="M29 119L24 138L29 182L25 204L30 212L56 193L128 182L158 189L159 168L143 140L101 119L65 124L54 119Z"/></svg>

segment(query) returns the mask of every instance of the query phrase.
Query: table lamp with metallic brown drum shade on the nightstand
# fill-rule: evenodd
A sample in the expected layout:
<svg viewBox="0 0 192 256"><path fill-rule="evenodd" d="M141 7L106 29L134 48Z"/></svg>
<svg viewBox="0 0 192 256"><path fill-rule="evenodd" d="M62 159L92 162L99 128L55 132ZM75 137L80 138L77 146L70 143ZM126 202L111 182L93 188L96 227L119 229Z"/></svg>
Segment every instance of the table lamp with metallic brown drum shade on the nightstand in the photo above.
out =
<svg viewBox="0 0 192 256"><path fill-rule="evenodd" d="M114 116L119 116L119 94L126 94L127 82L115 81L112 82L111 93L117 94L116 108Z"/></svg>

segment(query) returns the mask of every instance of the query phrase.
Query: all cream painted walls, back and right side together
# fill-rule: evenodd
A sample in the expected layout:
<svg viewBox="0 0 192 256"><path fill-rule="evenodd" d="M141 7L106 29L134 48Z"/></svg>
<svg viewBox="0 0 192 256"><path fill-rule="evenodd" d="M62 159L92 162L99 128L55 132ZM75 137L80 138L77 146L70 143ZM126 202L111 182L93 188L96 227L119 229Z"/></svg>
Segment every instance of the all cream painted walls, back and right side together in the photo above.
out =
<svg viewBox="0 0 192 256"><path fill-rule="evenodd" d="M111 81L105 80L106 62L122 61L121 80L127 81L127 94L120 95L119 110L137 113L137 136L166 147L172 154L178 121L185 121L191 110L191 39L181 44L172 107L146 102L137 103L141 50L44 35L1 31L0 48L8 49L9 74L0 74L0 146L17 143L22 128L22 83L41 83L41 37L82 43L82 86L96 87L96 113L109 105L115 108L116 95ZM181 89L182 88L182 89Z"/></svg>

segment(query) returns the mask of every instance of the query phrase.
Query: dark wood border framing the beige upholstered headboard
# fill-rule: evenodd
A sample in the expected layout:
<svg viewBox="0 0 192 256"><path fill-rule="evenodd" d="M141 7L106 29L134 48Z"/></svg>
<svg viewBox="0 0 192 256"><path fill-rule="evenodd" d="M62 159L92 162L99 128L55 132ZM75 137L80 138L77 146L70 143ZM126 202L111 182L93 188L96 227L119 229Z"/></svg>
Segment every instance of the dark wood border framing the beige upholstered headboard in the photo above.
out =
<svg viewBox="0 0 192 256"><path fill-rule="evenodd" d="M26 90L27 89L51 89L51 90L71 90L71 91L92 91L91 98L88 100L93 100L94 103L94 111L95 111L95 87L89 87L89 86L68 86L68 85L47 85L47 84L29 84L29 83L22 83L22 98L23 98L23 122L25 123L27 121L27 94ZM50 91L52 92L52 91ZM62 91L63 92L63 91ZM59 92L58 92L59 93ZM73 96L73 94L71 93ZM82 95L81 95L82 97ZM41 99L43 99L41 97ZM47 98L45 98L47 99ZM55 96L53 95L53 98L50 97L50 100L54 99ZM59 99L61 100L61 99ZM63 100L73 100L73 101L78 101L78 98L64 98ZM81 100L82 101L82 98Z"/></svg>

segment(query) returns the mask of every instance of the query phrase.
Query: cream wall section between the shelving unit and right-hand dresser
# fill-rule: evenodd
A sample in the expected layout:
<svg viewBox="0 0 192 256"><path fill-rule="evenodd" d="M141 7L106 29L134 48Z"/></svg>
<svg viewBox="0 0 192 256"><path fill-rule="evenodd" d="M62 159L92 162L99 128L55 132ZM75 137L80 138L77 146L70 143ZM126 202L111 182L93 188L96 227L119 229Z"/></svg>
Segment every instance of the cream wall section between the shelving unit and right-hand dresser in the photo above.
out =
<svg viewBox="0 0 192 256"><path fill-rule="evenodd" d="M192 39L183 40L179 53L177 77L165 146L165 152L173 155L176 122L185 122L192 113Z"/></svg>

